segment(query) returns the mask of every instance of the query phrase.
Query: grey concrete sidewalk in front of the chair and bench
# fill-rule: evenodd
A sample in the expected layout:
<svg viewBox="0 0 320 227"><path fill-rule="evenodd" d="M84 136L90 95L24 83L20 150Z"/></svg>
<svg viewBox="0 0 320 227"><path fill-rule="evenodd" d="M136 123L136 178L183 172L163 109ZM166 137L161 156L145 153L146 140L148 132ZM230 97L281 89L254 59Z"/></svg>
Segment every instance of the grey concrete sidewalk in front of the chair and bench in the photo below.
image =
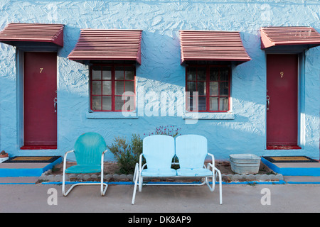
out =
<svg viewBox="0 0 320 227"><path fill-rule="evenodd" d="M133 188L109 184L106 195L100 196L99 186L78 186L65 197L57 184L0 184L0 212L320 212L320 184L223 184L223 205L218 187L210 192L206 185L144 186L132 205Z"/></svg>

